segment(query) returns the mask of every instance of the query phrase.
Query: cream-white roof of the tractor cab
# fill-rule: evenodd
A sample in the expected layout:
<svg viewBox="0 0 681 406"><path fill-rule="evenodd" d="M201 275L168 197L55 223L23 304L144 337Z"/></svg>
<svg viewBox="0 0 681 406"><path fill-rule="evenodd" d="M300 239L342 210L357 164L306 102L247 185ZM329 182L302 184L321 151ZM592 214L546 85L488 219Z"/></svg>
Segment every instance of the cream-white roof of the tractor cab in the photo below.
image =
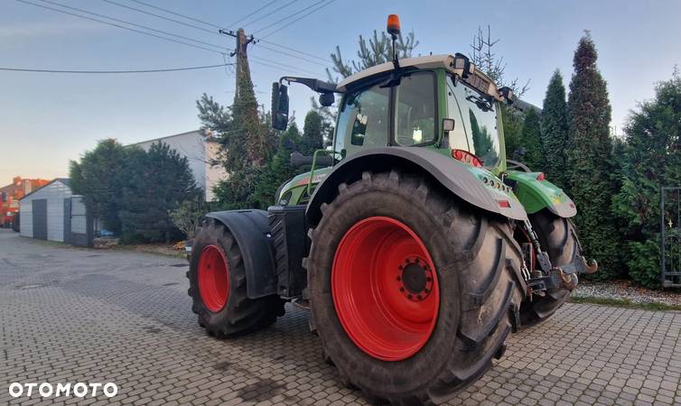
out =
<svg viewBox="0 0 681 406"><path fill-rule="evenodd" d="M427 55L416 58L405 58L399 60L400 68L415 68L415 69L435 69L444 68L452 72L452 74L457 75L462 78L466 83L468 83L472 88L477 88L481 93L490 95L499 101L504 100L504 97L499 94L499 89L497 85L492 81L490 77L482 73L480 70L475 69L471 63L471 68L468 71L468 75L464 75L463 64L455 63L459 58L465 59L464 56L452 55ZM466 59L467 60L467 59ZM372 66L371 68L364 69L350 75L348 78L344 78L337 86L340 92L345 92L348 88L352 88L354 85L363 82L367 78L378 76L380 74L389 72L395 69L393 62L381 63L380 65ZM464 78L464 76L466 78Z"/></svg>

